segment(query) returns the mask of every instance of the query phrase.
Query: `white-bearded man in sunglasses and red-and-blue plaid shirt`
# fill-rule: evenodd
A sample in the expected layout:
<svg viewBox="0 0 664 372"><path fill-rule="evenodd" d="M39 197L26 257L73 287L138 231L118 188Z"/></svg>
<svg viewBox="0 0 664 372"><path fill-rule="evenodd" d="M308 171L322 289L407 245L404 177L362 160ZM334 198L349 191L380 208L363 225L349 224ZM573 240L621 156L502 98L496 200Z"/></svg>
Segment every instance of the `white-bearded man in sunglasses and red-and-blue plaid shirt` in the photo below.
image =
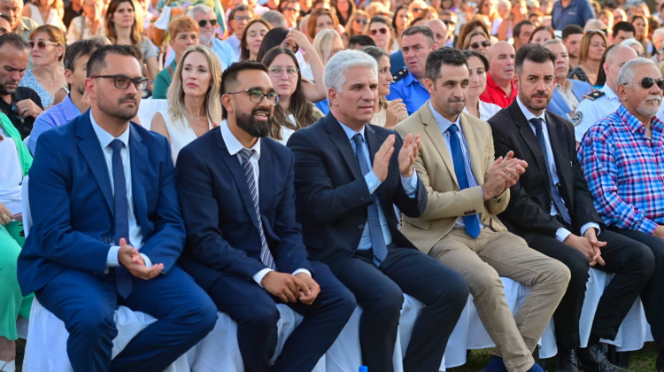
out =
<svg viewBox="0 0 664 372"><path fill-rule="evenodd" d="M660 109L664 80L648 59L629 60L618 73L618 111L593 125L578 157L593 202L609 230L650 248L654 271L641 291L645 316L664 370L664 122Z"/></svg>

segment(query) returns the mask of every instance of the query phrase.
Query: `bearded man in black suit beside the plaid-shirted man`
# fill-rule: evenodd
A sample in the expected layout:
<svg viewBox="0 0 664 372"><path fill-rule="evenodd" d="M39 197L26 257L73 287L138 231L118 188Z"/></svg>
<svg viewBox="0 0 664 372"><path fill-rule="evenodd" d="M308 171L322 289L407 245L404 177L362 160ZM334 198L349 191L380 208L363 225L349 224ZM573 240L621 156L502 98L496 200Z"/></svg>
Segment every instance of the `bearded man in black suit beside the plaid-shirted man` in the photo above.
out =
<svg viewBox="0 0 664 372"><path fill-rule="evenodd" d="M576 159L574 128L544 110L555 86L554 60L540 45L522 47L515 62L519 96L489 120L496 155L514 151L514 157L529 164L511 188L512 198L500 219L529 246L562 261L572 273L553 314L560 353L556 371L578 371L579 364L591 371L624 371L606 360L599 338L614 339L652 274L652 252L607 231L595 211ZM587 347L577 351L589 267L616 275L599 300Z"/></svg>

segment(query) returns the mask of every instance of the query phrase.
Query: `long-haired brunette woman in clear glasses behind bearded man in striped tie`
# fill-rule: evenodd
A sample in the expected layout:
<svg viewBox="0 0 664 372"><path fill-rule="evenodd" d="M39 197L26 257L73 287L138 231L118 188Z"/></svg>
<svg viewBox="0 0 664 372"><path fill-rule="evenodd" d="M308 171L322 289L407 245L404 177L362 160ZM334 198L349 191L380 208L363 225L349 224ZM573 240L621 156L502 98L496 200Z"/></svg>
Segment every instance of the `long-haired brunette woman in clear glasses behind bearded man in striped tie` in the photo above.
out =
<svg viewBox="0 0 664 372"><path fill-rule="evenodd" d="M270 137L286 144L293 132L312 125L323 114L305 97L302 75L293 50L274 47L267 51L262 62L267 66L274 92L279 95L279 104L274 107L272 116Z"/></svg>

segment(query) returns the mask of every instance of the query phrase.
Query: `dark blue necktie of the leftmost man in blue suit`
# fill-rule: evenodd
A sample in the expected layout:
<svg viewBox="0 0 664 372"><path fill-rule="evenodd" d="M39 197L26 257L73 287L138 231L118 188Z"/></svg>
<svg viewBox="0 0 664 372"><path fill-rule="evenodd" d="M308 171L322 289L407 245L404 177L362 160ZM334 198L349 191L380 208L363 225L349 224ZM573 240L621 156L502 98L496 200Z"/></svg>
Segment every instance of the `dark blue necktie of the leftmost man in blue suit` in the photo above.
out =
<svg viewBox="0 0 664 372"><path fill-rule="evenodd" d="M115 244L120 245L120 237L127 239L129 242L129 217L127 208L127 185L125 184L125 167L122 165L122 156L120 151L125 146L119 139L114 139L111 142L111 149L113 151L112 167L113 167L113 201L115 202ZM131 274L127 271L126 267L120 265L115 267L115 286L118 294L122 298L127 298L132 291L132 278Z"/></svg>

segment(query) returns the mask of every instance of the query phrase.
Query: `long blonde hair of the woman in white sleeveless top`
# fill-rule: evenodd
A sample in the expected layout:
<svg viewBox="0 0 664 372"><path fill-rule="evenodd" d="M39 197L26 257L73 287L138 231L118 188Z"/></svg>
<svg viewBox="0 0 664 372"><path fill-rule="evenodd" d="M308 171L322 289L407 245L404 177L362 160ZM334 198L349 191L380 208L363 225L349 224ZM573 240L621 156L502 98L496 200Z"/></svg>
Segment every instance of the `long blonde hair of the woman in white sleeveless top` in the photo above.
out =
<svg viewBox="0 0 664 372"><path fill-rule="evenodd" d="M205 108L207 111L207 118L212 120L213 123L219 124L221 122L221 63L219 58L214 52L205 45L192 45L182 54L182 58L175 68L173 81L171 86L168 87L168 115L175 123L180 120L186 120L189 125L194 117L191 112L187 111L184 106L184 89L182 89L182 67L184 66L184 59L191 53L202 53L207 58L207 64L210 67L210 75L212 78L212 85L207 89L207 96L205 97Z"/></svg>

